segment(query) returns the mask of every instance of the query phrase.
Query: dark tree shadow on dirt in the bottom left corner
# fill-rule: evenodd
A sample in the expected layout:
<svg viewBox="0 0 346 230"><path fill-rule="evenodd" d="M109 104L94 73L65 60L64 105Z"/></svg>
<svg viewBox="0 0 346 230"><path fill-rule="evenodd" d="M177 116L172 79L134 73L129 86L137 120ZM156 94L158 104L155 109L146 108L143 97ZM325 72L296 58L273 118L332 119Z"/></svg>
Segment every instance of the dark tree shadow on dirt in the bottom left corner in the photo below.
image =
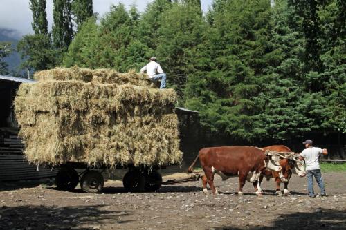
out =
<svg viewBox="0 0 346 230"><path fill-rule="evenodd" d="M102 223L122 224L128 211L109 211L102 205L85 207L0 207L0 229L102 229ZM126 221L129 222L129 221Z"/></svg>

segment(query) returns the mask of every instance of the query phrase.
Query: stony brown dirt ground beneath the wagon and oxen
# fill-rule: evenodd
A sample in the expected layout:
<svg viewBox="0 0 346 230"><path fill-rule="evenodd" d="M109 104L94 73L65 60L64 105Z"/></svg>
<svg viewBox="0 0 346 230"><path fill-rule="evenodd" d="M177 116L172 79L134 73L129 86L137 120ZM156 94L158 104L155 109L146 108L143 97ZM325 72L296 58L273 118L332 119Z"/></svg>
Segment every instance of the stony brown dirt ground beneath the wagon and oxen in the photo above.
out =
<svg viewBox="0 0 346 230"><path fill-rule="evenodd" d="M121 181L109 180L102 194L58 191L40 182L2 183L0 229L346 229L346 173L323 177L327 198L307 197L307 178L297 175L289 184L292 195L275 195L271 180L262 183L262 197L250 183L239 196L237 178L221 181L217 175L218 195L203 194L201 181L126 193Z"/></svg>

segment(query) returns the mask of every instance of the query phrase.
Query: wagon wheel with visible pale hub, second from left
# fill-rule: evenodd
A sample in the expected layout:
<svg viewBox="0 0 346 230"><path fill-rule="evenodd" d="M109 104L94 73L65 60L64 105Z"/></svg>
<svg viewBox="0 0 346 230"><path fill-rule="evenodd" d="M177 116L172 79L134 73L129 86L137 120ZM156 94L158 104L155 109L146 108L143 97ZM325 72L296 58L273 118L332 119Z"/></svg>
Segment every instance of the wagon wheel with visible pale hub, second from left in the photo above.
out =
<svg viewBox="0 0 346 230"><path fill-rule="evenodd" d="M102 174L95 170L87 171L80 180L80 187L86 193L100 193L103 184Z"/></svg>

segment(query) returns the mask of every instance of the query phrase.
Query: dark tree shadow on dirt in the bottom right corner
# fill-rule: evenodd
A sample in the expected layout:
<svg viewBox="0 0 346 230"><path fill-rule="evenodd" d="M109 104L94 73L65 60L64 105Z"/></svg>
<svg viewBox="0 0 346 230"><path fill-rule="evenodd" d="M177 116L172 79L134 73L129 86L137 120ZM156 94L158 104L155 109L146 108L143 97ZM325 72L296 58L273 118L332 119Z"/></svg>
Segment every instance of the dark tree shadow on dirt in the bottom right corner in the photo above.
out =
<svg viewBox="0 0 346 230"><path fill-rule="evenodd" d="M300 229L300 230L325 230L346 229L346 211L333 209L316 209L316 211L296 212L279 217L271 226L250 225L217 227L215 230L269 230L269 229Z"/></svg>

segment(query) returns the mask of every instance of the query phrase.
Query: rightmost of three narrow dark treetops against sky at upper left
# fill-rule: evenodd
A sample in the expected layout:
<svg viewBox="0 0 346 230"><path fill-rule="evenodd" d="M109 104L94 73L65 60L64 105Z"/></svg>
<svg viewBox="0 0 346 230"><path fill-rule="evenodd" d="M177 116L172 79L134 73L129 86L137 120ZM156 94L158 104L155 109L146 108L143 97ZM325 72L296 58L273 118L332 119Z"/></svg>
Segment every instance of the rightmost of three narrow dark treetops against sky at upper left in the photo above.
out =
<svg viewBox="0 0 346 230"><path fill-rule="evenodd" d="M82 23L93 16L93 0L73 0L72 12L77 28L80 28Z"/></svg>

